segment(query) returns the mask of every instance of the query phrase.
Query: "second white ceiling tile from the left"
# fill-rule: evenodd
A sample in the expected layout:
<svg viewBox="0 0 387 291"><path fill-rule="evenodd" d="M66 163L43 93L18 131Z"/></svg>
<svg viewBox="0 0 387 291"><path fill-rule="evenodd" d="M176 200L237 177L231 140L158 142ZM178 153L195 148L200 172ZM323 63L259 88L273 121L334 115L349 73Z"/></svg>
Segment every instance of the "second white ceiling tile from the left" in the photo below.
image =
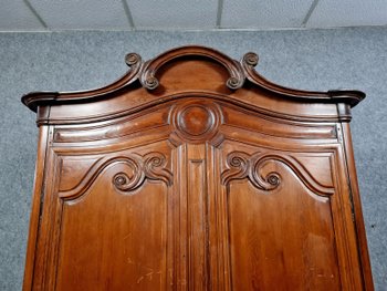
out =
<svg viewBox="0 0 387 291"><path fill-rule="evenodd" d="M51 30L128 29L122 0L30 0Z"/></svg>

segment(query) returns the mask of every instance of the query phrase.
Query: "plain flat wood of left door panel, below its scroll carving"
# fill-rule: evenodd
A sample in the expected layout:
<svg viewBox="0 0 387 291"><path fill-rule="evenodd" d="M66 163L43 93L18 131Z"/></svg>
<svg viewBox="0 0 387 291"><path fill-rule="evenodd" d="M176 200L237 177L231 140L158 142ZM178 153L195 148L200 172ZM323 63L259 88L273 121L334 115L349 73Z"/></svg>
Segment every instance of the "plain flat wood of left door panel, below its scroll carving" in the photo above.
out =
<svg viewBox="0 0 387 291"><path fill-rule="evenodd" d="M61 236L66 239L59 249L57 290L167 287L166 186L145 181L133 193L117 193L111 181L116 170L102 173L82 199L63 204Z"/></svg>

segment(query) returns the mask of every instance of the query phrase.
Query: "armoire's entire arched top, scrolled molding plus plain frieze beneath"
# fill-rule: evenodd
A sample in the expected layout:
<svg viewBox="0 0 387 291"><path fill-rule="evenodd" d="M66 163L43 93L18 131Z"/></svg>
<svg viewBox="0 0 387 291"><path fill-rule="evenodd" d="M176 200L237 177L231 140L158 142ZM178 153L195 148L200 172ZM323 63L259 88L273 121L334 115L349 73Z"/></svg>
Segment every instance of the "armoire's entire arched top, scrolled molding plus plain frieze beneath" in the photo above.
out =
<svg viewBox="0 0 387 291"><path fill-rule="evenodd" d="M189 63L192 60L194 63ZM80 116L70 114L65 118L86 121L104 114L116 116L117 112L151 106L151 104L168 100L170 95L192 92L201 92L203 95L222 94L231 102L239 102L251 107L266 106L273 112L279 112L280 115L292 115L297 112L297 110L294 110L297 103L314 104L312 115L315 115L313 116L315 119L320 117L332 119L338 116L339 119L348 121L351 118L349 107L355 106L365 97L363 92L355 90L317 92L278 85L268 81L254 70L258 60L258 55L250 52L238 62L217 50L200 45L172 49L146 62L143 62L138 54L129 53L126 55L126 63L130 66L130 70L107 86L79 92L33 92L24 95L22 102L34 112L38 112L40 106L44 107L39 114L39 124L51 118L55 119L57 113L55 107L60 107L61 116L67 114L70 108L66 110L66 106L63 105L74 105L74 108L71 107L71 112L80 113ZM207 62L210 62L211 65L205 67L202 64ZM191 64L197 66L197 70L194 70ZM160 81L157 79L157 73L161 74L161 67L167 65L180 66L178 71L169 73L171 74L168 79L169 83L167 82L167 87L163 87L159 86ZM222 77L219 79L219 74L216 77L217 72L213 71L221 67L224 69L222 70ZM199 76L203 69L206 69L206 76ZM211 72L215 73L213 80L207 80L211 77ZM182 80L187 79L192 79L192 81L185 83ZM160 80L163 81L163 79ZM202 81L202 83L199 81ZM175 84L180 86L175 86ZM265 102L270 104L264 105ZM96 104L90 112L82 107L82 105L88 103ZM285 103L290 105L289 108L285 108ZM339 105L337 105L337 108L330 107L336 106L336 104ZM45 110L46 106L53 108L50 114ZM112 112L98 112L103 108L108 108ZM330 111L330 116L324 113L325 110ZM83 116L83 114L85 115ZM301 112L300 116L305 116L305 114ZM104 118L106 119L106 116Z"/></svg>

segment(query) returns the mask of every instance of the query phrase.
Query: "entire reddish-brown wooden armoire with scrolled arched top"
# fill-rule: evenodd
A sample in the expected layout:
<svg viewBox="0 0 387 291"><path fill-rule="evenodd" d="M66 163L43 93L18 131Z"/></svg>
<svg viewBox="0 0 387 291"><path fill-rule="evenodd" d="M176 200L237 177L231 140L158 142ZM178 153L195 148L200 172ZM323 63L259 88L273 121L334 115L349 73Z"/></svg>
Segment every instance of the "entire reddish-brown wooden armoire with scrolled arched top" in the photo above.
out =
<svg viewBox="0 0 387 291"><path fill-rule="evenodd" d="M351 141L359 91L276 85L213 49L35 92L23 290L373 290Z"/></svg>

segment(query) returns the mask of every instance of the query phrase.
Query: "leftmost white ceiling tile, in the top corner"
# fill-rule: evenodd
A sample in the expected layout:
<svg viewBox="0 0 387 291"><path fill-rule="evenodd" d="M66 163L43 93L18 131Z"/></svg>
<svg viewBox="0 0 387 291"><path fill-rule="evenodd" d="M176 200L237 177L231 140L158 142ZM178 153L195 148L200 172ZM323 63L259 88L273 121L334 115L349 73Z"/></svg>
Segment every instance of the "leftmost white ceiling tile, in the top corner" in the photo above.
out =
<svg viewBox="0 0 387 291"><path fill-rule="evenodd" d="M44 27L22 0L2 0L0 31L36 31Z"/></svg>

